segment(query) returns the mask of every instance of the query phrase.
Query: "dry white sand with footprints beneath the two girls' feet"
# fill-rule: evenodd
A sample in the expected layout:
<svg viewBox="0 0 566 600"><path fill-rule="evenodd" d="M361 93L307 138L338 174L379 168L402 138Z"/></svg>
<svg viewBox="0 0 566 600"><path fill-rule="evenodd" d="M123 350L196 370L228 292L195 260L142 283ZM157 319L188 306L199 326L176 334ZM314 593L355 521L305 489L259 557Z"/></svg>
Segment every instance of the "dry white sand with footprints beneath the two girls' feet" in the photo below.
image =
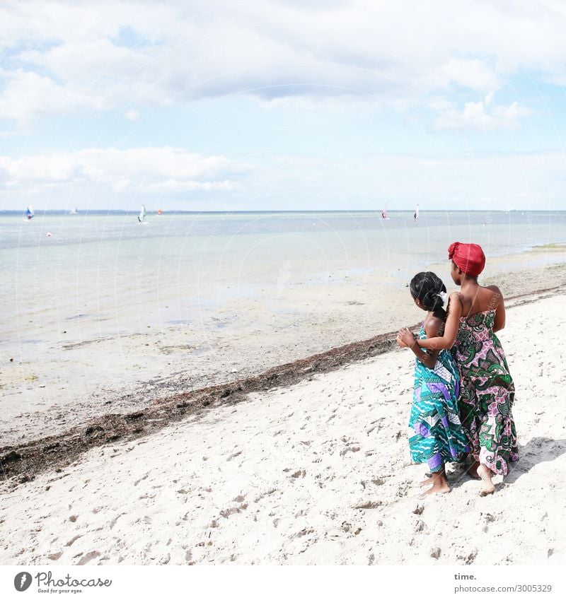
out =
<svg viewBox="0 0 566 600"><path fill-rule="evenodd" d="M4 493L0 563L564 563L565 305L508 311L521 459L491 497L452 476L450 494L419 498L412 355L397 350L93 449Z"/></svg>

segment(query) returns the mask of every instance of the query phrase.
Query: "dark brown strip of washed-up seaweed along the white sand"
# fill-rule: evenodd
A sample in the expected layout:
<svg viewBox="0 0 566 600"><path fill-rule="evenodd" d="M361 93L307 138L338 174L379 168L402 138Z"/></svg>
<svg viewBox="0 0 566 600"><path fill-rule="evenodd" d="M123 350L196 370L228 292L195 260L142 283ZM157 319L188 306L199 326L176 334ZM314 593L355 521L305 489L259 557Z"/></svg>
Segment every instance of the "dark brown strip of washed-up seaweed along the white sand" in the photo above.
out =
<svg viewBox="0 0 566 600"><path fill-rule="evenodd" d="M506 309L512 310L514 307L565 293L566 283L562 283L553 288L512 296L506 300ZM418 324L415 324L410 329L417 327ZM4 488L6 491L6 488L13 489L18 484L33 481L42 471L60 471L64 466L79 461L81 454L94 447L146 437L189 416L198 417L212 408L246 401L253 392L270 392L280 387L289 387L311 380L313 375L337 370L395 350L395 335L396 331L389 331L271 367L259 375L156 398L149 406L136 411L107 413L57 435L39 437L21 445L0 447L0 472L3 477L0 490Z"/></svg>

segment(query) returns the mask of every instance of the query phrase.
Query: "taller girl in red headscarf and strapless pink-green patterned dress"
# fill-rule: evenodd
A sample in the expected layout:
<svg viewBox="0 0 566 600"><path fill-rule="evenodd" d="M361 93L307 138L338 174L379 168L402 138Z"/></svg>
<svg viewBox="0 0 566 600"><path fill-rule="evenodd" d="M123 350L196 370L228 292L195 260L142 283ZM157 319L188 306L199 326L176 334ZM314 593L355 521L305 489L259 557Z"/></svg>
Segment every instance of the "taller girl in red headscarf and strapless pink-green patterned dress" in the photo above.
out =
<svg viewBox="0 0 566 600"><path fill-rule="evenodd" d="M480 495L495 491L492 476L506 476L519 459L512 406L515 389L496 331L505 326L503 295L497 286L480 286L485 254L477 244L454 242L448 249L451 277L461 286L449 298L444 336L417 339L421 348L452 348L461 374L459 408L468 430L474 462L468 472L483 481ZM415 342L408 329L398 339Z"/></svg>

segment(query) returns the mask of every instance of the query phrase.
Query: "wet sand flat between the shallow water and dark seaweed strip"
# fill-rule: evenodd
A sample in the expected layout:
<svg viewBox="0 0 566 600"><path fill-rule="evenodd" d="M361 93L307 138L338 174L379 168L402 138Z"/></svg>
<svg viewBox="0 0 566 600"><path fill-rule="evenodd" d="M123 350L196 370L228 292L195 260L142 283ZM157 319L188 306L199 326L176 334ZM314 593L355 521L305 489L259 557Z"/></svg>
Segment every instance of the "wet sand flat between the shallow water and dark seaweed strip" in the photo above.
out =
<svg viewBox="0 0 566 600"><path fill-rule="evenodd" d="M566 281L566 252L543 247L491 259L488 267L481 283L497 283L506 297L524 295ZM448 261L427 268L450 281ZM279 282L258 298L203 308L198 322L147 327L144 334L85 337L80 320L69 322L53 343L15 348L3 360L0 445L62 433L102 414L140 411L414 324L420 314L405 285L375 270L335 273L328 282Z"/></svg>

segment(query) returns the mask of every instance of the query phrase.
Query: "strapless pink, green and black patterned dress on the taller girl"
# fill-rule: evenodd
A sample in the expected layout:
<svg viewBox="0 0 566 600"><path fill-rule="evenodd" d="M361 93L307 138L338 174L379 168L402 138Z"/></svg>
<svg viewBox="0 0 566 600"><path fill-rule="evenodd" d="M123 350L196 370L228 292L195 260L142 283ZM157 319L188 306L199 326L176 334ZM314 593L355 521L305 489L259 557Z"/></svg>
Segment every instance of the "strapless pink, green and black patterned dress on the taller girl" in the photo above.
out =
<svg viewBox="0 0 566 600"><path fill-rule="evenodd" d="M519 459L512 415L515 388L499 339L495 310L461 317L452 354L460 369L460 417L475 460L503 476Z"/></svg>

